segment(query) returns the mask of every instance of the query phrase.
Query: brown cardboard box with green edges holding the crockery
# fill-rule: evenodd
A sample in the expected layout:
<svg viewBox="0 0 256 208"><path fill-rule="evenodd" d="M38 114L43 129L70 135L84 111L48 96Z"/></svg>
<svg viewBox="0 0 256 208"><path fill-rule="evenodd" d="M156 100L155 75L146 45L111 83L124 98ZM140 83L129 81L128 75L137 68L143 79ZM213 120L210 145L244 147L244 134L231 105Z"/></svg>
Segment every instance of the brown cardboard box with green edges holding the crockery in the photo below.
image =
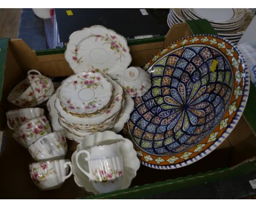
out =
<svg viewBox="0 0 256 208"><path fill-rule="evenodd" d="M131 65L143 66L164 46L191 35L191 30L193 29L182 23L173 26L164 39L133 42L132 45L130 44ZM39 70L48 77L65 77L72 75L73 72L64 58L63 50L36 53L20 39L0 39L0 48L0 86L2 86L0 130L4 132L0 134L4 138L0 156L0 198L143 198L146 194L173 191L204 182L232 178L251 173L256 169L256 137L252 130L255 130L256 125L253 122L252 126L248 124L253 120L248 116L248 120L247 117L240 119L230 136L216 150L196 163L173 170L157 170L141 165L128 189L94 196L79 188L72 176L59 189L39 191L34 186L28 171L28 164L33 160L28 151L11 137L13 131L6 125L5 112L17 108L7 101L7 96L10 90L26 77L26 71L30 69ZM250 93L248 103L249 106L253 106L256 99L250 100L250 96L254 97ZM40 107L45 108L45 103ZM249 115L251 109L246 108L245 112ZM71 158L76 146L76 143L68 141L66 158Z"/></svg>

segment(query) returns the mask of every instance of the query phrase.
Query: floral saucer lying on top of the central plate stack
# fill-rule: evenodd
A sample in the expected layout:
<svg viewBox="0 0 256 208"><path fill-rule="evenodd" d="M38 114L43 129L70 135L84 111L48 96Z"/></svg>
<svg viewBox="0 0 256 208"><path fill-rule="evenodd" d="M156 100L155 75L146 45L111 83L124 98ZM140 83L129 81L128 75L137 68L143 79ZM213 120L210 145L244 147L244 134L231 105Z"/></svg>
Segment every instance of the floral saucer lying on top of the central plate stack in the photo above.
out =
<svg viewBox="0 0 256 208"><path fill-rule="evenodd" d="M80 72L62 82L58 98L62 108L71 114L104 111L112 101L112 84L98 72Z"/></svg>

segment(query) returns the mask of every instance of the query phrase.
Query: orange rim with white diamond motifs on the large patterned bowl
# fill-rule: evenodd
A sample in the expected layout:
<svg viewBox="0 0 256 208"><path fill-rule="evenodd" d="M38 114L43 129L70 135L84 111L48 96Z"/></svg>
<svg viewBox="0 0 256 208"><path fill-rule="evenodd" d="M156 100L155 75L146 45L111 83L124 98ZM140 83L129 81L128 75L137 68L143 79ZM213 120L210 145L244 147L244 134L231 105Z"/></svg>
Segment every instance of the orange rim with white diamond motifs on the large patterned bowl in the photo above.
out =
<svg viewBox="0 0 256 208"><path fill-rule="evenodd" d="M246 67L245 59L242 57L240 51L225 38L222 38L218 35L202 34L192 35L177 40L172 44L166 46L163 50L156 53L155 56L153 56L152 59L150 59L149 62L144 65L144 70L147 71L148 69L150 69L150 66L158 62L159 59L164 57L167 53L171 53L172 51L176 50L177 48L198 44L217 48L219 51L225 54L225 57L229 60L234 75L234 85L229 106L231 106L232 104L234 105L235 103L236 110L231 114L229 114L228 110L224 113L221 121L225 121L227 124L226 126L221 126L220 121L219 124L214 128L214 130L199 144L178 154L169 156L150 155L148 152L143 151L143 149L139 148L136 142L133 141L135 150L137 151L137 156L144 166L155 169L176 169L199 161L201 158L210 154L229 136L231 131L238 123L238 120L242 116L249 94L249 70ZM230 55L230 52L232 52L232 55ZM242 74L242 78L239 82L238 79L235 78L237 72ZM239 94L236 97L235 91L239 86L241 88L242 94ZM127 123L127 126L130 132L129 122ZM130 136L132 138L131 133Z"/></svg>

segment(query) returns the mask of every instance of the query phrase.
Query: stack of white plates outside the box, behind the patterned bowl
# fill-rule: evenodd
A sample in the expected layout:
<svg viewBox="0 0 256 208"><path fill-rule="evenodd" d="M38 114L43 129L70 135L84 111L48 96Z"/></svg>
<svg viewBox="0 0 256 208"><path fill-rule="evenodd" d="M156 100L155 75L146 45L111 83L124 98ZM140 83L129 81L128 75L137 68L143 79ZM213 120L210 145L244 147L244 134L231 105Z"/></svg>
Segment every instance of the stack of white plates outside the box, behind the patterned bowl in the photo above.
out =
<svg viewBox="0 0 256 208"><path fill-rule="evenodd" d="M208 20L220 36L237 44L253 19L249 9L170 9L167 23L174 24L186 20Z"/></svg>

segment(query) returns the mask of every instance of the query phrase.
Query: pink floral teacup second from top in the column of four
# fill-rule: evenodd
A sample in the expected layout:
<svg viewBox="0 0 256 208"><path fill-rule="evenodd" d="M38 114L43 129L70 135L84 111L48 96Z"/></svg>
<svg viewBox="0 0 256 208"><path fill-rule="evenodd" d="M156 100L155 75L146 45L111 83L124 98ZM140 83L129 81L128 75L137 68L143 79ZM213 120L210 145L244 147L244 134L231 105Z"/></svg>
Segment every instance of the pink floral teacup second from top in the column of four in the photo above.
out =
<svg viewBox="0 0 256 208"><path fill-rule="evenodd" d="M50 132L50 124L43 115L42 117L34 118L20 126L19 130L15 132L13 136L22 146L28 148L28 146L38 138L43 137Z"/></svg>

